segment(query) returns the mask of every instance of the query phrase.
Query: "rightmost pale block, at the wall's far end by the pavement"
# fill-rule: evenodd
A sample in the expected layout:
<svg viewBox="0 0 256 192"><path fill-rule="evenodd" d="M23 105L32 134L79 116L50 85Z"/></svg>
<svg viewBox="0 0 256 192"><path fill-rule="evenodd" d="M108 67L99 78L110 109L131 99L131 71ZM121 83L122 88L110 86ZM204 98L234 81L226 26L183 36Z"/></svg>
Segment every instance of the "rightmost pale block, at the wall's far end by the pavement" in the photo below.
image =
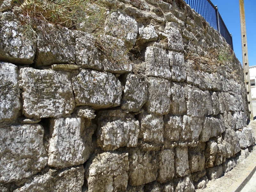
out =
<svg viewBox="0 0 256 192"><path fill-rule="evenodd" d="M242 131L236 131L241 148L247 148L254 144L252 128L244 127Z"/></svg>

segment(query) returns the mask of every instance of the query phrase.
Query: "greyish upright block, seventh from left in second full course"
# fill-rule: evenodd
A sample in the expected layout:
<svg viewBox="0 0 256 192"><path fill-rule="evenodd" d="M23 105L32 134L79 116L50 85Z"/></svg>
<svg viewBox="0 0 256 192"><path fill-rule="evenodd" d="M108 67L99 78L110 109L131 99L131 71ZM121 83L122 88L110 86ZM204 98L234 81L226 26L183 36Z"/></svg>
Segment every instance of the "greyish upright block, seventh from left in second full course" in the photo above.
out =
<svg viewBox="0 0 256 192"><path fill-rule="evenodd" d="M185 86L185 98L187 101L187 115L203 117L206 114L205 93L197 88Z"/></svg>

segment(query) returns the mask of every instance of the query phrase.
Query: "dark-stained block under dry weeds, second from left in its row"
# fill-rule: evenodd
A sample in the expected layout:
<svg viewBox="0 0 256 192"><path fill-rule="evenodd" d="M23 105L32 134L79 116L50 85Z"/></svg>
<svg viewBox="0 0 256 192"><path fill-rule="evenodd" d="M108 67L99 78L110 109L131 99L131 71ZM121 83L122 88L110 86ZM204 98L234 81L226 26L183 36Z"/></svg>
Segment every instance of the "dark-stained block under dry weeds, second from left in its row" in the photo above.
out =
<svg viewBox="0 0 256 192"><path fill-rule="evenodd" d="M75 39L68 28L45 23L38 26L36 66L76 62Z"/></svg>

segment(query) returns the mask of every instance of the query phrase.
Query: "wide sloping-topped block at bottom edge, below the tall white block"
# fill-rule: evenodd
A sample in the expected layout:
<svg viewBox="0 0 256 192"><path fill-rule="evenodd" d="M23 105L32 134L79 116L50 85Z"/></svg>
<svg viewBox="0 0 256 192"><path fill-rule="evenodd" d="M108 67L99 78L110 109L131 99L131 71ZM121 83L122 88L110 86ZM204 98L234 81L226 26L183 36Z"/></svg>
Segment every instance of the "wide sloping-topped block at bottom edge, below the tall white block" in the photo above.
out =
<svg viewBox="0 0 256 192"><path fill-rule="evenodd" d="M29 182L13 192L81 192L84 184L84 167L68 167L59 171L49 170L42 175L36 175Z"/></svg>

